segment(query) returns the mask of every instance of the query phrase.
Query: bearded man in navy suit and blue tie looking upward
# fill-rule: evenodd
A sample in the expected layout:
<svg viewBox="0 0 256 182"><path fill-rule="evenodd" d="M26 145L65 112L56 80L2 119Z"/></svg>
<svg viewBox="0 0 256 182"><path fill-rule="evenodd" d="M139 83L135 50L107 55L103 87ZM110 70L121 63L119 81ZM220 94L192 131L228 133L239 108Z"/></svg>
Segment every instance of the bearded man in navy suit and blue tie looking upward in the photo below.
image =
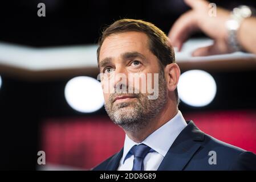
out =
<svg viewBox="0 0 256 182"><path fill-rule="evenodd" d="M180 69L159 28L142 20L116 21L99 40L97 60L105 109L126 135L121 151L94 170L256 169L253 153L210 137L182 117ZM158 77L152 79L151 74ZM154 85L157 94L145 90L145 85Z"/></svg>

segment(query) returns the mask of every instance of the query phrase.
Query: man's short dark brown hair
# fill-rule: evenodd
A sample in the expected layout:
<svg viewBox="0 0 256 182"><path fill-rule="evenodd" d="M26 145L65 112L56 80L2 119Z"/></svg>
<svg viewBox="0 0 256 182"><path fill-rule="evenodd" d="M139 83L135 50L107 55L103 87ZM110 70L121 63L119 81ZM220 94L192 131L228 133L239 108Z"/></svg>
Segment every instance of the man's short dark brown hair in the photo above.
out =
<svg viewBox="0 0 256 182"><path fill-rule="evenodd" d="M166 34L157 28L154 24L145 22L144 20L136 19L120 19L112 23L110 26L106 27L102 32L99 39L97 48L97 63L99 64L100 48L108 36L112 34L118 34L128 31L143 32L148 36L149 39L149 49L150 51L159 59L160 69L162 71L166 65L170 63L175 63L175 55L173 47L170 46L168 42L168 37ZM178 90L175 90L177 104L179 102Z"/></svg>

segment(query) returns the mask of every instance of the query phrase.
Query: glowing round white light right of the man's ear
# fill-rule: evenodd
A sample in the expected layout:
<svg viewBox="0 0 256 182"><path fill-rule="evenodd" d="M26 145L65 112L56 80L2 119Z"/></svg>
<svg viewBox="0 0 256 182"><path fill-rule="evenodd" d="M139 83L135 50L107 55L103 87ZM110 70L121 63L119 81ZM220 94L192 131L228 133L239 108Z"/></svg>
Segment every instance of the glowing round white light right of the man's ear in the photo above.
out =
<svg viewBox="0 0 256 182"><path fill-rule="evenodd" d="M178 95L181 101L194 107L202 107L213 101L217 91L214 78L207 72L191 70L181 74Z"/></svg>

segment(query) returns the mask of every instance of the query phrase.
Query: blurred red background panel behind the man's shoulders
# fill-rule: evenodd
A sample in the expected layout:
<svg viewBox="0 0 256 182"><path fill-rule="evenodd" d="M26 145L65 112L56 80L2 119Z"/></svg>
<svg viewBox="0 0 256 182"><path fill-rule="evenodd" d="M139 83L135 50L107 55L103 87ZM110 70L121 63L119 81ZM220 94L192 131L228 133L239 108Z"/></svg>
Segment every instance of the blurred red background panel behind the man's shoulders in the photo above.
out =
<svg viewBox="0 0 256 182"><path fill-rule="evenodd" d="M256 152L256 111L184 113L205 133ZM124 131L106 117L51 118L42 125L46 162L90 169L123 147Z"/></svg>

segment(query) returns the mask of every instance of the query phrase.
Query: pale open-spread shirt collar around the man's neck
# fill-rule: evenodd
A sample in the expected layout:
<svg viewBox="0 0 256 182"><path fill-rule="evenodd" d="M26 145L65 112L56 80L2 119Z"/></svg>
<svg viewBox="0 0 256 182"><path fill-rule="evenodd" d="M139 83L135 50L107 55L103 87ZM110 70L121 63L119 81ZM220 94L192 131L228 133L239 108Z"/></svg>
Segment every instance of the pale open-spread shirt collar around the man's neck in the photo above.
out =
<svg viewBox="0 0 256 182"><path fill-rule="evenodd" d="M147 146L151 147L154 151L158 152L163 157L168 152L170 146L172 146L174 140L178 137L181 131L186 127L186 121L179 110L178 113L166 122L159 129L150 134L143 142ZM127 135L124 140L124 152L121 163L123 164L131 148L137 144Z"/></svg>

